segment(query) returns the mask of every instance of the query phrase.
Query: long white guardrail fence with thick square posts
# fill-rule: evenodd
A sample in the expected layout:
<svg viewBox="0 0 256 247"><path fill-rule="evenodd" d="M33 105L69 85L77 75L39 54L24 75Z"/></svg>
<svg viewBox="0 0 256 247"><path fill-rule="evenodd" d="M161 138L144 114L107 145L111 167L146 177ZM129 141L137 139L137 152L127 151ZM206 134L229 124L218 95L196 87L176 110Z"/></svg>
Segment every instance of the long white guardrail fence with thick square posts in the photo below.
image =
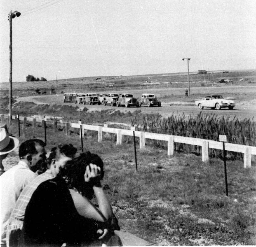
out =
<svg viewBox="0 0 256 247"><path fill-rule="evenodd" d="M4 118L8 117L8 115L1 115L1 122L4 121ZM17 119L17 116L14 115L12 119ZM33 118L33 117L19 117L20 121L23 121L23 126L26 126L26 121L33 122L33 127L37 122L42 123L42 121L46 120L47 123L56 126L56 121L46 119L46 118ZM55 123L54 123L55 122ZM84 135L85 130L94 130L98 132L98 142L102 142L102 133L114 133L117 135L116 144L122 144L122 136L129 135L133 136L133 130L125 130L120 128L109 128L107 124L104 126L96 126L96 125L89 125L89 124L80 124L80 123L69 123L69 122L62 122L61 120L58 122L58 125L65 126L66 128L66 135L69 135L69 128L78 128L80 129L80 125L82 125L82 135ZM42 125L43 126L43 125ZM146 139L153 139L153 140L162 140L167 142L167 155L171 156L174 154L174 142L196 145L202 147L202 161L207 162L209 161L209 148L212 149L220 149L223 150L223 143L213 140L206 140L194 137L185 137L185 136L178 136L178 135L167 135L167 134L158 134L158 133L150 133L150 132L143 132L143 131L135 131L135 136L139 137L139 145L140 148L145 147L145 140ZM246 146L241 144L233 144L225 142L225 150L226 151L233 151L239 152L244 154L244 168L251 167L251 156L256 155L256 147L253 146Z"/></svg>

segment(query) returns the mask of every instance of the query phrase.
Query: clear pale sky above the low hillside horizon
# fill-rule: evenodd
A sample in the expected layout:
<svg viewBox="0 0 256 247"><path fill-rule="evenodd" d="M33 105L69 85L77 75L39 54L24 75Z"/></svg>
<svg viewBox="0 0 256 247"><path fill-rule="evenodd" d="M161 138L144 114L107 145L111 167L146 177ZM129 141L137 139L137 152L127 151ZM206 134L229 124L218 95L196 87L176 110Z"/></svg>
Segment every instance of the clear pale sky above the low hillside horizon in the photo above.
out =
<svg viewBox="0 0 256 247"><path fill-rule="evenodd" d="M1 0L0 82L256 68L256 0Z"/></svg>

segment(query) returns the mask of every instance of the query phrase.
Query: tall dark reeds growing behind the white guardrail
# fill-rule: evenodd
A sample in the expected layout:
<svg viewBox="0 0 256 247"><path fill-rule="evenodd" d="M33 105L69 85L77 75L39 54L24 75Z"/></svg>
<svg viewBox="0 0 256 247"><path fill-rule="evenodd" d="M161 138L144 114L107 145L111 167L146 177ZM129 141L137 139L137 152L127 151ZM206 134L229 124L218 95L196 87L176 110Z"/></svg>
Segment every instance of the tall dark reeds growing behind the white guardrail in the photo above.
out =
<svg viewBox="0 0 256 247"><path fill-rule="evenodd" d="M162 118L160 115L146 115L142 118L134 117L131 120L138 130L162 133L169 135L179 135L186 137L195 137L207 140L219 140L219 135L227 135L230 143L256 146L256 123L253 119L239 120L236 117L218 118L215 114L198 114L185 117L182 115L171 115L171 117ZM162 141L152 141L151 143L160 147L166 146ZM190 151L200 153L201 147L195 147L188 144L177 144L176 151ZM210 149L211 157L221 157L221 151ZM229 158L242 157L241 153L228 152Z"/></svg>

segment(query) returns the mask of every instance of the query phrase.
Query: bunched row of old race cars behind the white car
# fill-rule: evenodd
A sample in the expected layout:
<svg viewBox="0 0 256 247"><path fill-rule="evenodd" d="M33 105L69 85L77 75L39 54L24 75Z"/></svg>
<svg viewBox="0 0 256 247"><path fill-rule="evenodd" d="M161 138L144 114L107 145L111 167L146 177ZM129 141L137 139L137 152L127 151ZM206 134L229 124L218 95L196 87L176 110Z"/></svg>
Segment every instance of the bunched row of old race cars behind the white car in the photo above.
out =
<svg viewBox="0 0 256 247"><path fill-rule="evenodd" d="M152 93L143 93L140 100L134 98L131 93L64 93L63 102L83 105L111 105L117 107L141 107L141 105L147 105L148 107L161 106L161 102Z"/></svg>

